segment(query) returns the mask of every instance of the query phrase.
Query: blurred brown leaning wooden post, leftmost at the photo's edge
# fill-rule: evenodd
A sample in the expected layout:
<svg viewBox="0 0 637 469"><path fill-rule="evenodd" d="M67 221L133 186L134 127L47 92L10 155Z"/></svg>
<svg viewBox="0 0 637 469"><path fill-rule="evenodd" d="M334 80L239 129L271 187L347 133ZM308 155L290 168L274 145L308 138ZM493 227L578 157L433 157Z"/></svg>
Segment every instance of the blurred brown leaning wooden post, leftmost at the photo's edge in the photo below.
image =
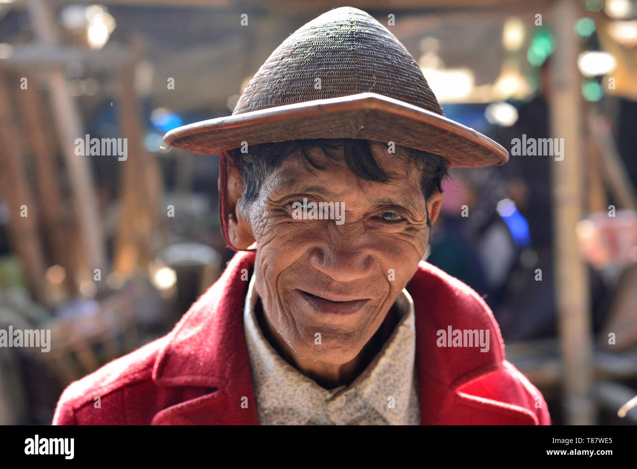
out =
<svg viewBox="0 0 637 469"><path fill-rule="evenodd" d="M19 82L15 93L21 93ZM31 294L46 301L44 288L45 260L38 234L38 210L31 195L22 165L20 131L11 113L10 92L4 74L0 73L0 190L11 213L9 229L15 251L22 262ZM26 210L26 216L21 212Z"/></svg>

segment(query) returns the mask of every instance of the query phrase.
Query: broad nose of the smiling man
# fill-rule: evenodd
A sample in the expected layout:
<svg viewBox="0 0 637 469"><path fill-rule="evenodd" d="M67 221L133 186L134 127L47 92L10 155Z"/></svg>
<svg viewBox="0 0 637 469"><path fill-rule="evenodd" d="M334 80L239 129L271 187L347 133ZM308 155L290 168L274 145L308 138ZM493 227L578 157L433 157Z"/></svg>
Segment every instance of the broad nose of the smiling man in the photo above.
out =
<svg viewBox="0 0 637 469"><path fill-rule="evenodd" d="M310 253L310 265L334 281L348 282L369 276L374 259L363 246L322 246Z"/></svg>

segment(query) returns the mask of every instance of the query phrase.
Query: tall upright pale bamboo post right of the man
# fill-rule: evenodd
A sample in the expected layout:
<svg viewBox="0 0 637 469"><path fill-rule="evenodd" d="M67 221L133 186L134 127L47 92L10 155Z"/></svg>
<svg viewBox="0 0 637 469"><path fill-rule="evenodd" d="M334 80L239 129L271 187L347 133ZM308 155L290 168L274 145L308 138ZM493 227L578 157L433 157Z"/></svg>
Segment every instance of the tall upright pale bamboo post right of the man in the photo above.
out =
<svg viewBox="0 0 637 469"><path fill-rule="evenodd" d="M594 423L592 399L592 341L589 285L578 252L575 225L583 218L582 96L576 61L578 39L573 26L578 19L576 0L558 0L553 17L556 45L550 102L552 137L564 138L563 160L552 158L555 219L555 273L557 322L564 375L564 410L571 425Z"/></svg>

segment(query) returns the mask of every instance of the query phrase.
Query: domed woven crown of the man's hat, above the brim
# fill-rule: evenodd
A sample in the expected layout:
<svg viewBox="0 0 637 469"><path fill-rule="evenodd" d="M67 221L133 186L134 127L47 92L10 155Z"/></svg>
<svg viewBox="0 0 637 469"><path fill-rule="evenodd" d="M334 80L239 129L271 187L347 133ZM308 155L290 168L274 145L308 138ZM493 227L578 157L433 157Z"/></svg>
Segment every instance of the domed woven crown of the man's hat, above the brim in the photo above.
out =
<svg viewBox="0 0 637 469"><path fill-rule="evenodd" d="M243 90L233 115L378 93L443 115L412 54L366 11L327 11L285 39Z"/></svg>

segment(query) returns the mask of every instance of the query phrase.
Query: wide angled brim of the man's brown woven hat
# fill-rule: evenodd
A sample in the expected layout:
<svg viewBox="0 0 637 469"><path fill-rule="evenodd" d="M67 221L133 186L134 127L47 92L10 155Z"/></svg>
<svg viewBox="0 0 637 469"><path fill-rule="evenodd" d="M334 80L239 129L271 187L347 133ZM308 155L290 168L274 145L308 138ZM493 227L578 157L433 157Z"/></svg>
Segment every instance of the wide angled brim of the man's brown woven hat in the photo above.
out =
<svg viewBox="0 0 637 469"><path fill-rule="evenodd" d="M508 151L482 133L423 108L361 93L217 117L166 133L164 142L200 154L304 138L359 138L439 154L449 167L503 165Z"/></svg>

